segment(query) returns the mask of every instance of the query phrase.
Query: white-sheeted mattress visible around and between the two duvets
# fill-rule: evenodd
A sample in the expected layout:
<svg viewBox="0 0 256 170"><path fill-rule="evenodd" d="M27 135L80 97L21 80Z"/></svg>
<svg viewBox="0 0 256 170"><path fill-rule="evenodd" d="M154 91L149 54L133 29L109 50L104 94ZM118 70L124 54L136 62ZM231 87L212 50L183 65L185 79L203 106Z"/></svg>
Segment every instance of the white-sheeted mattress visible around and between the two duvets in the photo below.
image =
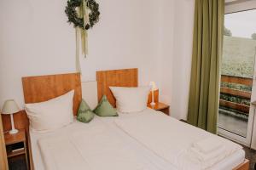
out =
<svg viewBox="0 0 256 170"><path fill-rule="evenodd" d="M160 156L156 155L151 150L148 150L143 144L137 142L136 139L131 138L127 133L121 130L119 127L116 126L115 120L119 119L126 119L133 116L137 116L137 114L147 114L148 111L152 111L147 109L146 111L139 112L139 113L132 113L132 114L119 114L119 117L99 117L96 116L95 119L90 122L89 124L84 124L82 122L77 122L76 120L68 125L67 127L63 127L61 129L56 130L55 132L51 133L30 133L30 139L32 143L32 161L34 163L34 167L36 170L44 170L44 161L41 156L41 151L38 147L38 140L44 138L50 138L55 136L61 136L65 134L70 134L75 132L77 129L88 129L90 126L97 126L100 124L104 124L108 127L109 131L115 133L115 135L124 140L132 150L135 150L137 155L143 157L143 161L148 164L148 170L176 170L177 167L173 166L172 163L162 159ZM160 114L160 113L159 113ZM169 118L166 116L166 118ZM241 162L244 161L245 153L243 150L237 150L231 156L225 158L223 161L218 162L218 164L214 165L211 169L216 170L226 170L232 169L236 167Z"/></svg>

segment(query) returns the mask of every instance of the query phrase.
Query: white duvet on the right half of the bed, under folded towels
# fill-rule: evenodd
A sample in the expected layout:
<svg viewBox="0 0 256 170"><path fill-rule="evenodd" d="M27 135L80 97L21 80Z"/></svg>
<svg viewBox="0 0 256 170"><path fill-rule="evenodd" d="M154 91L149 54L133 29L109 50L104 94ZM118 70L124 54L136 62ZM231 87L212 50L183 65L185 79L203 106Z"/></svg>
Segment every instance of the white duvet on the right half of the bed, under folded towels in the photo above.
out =
<svg viewBox="0 0 256 170"><path fill-rule="evenodd" d="M223 144L222 150L219 150L221 153L218 156L212 156L212 159L207 161L201 160L191 150L192 145L213 134L155 111L148 111L147 114L138 114L136 117L127 119L118 119L115 122L131 138L137 139L148 150L154 151L177 169L209 169L225 157L241 150L239 144L217 137Z"/></svg>

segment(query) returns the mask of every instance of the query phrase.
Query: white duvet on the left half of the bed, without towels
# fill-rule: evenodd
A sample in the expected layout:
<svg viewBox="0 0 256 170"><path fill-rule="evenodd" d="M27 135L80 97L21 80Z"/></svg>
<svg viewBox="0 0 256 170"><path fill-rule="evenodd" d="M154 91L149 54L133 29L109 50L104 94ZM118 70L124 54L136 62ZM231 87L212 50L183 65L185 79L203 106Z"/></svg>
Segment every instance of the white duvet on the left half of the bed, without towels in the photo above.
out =
<svg viewBox="0 0 256 170"><path fill-rule="evenodd" d="M143 156L104 124L38 140L47 170L147 170ZM156 168L155 168L156 169Z"/></svg>

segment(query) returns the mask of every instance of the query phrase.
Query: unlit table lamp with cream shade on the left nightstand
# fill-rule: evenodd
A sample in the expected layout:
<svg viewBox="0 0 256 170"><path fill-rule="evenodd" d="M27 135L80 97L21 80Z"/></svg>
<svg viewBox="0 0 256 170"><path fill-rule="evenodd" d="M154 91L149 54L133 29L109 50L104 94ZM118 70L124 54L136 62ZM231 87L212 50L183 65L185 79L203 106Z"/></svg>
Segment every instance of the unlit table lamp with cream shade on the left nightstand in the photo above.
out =
<svg viewBox="0 0 256 170"><path fill-rule="evenodd" d="M14 122L14 113L20 111L19 106L16 104L14 99L8 99L3 104L2 114L10 115L11 116L11 125L12 130L9 131L10 134L18 133L19 131L15 129L15 122Z"/></svg>

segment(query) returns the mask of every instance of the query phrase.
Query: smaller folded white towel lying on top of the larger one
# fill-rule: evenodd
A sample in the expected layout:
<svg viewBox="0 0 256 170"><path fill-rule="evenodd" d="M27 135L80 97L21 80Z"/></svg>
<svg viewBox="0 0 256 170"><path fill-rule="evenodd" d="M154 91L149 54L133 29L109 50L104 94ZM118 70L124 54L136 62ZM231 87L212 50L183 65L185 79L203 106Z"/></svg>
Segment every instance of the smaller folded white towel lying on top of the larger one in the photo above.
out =
<svg viewBox="0 0 256 170"><path fill-rule="evenodd" d="M209 137L207 139L202 139L198 142L195 142L193 146L201 151L204 154L211 153L214 150L218 150L219 147L221 147L223 144L218 137L213 136Z"/></svg>

